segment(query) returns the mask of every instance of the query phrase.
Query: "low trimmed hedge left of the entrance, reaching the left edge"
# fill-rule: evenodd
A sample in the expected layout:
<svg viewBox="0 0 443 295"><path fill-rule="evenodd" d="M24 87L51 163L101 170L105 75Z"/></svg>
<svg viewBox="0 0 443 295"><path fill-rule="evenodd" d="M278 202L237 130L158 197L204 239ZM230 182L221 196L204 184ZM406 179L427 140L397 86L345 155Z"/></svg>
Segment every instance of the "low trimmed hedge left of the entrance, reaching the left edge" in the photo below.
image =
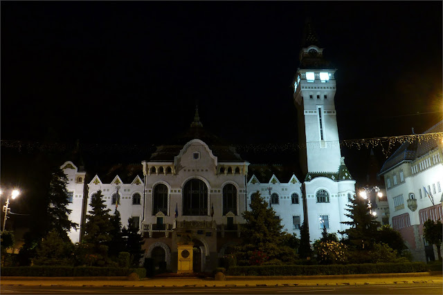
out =
<svg viewBox="0 0 443 295"><path fill-rule="evenodd" d="M129 276L135 272L145 278L144 268L30 266L1 267L1 276Z"/></svg>

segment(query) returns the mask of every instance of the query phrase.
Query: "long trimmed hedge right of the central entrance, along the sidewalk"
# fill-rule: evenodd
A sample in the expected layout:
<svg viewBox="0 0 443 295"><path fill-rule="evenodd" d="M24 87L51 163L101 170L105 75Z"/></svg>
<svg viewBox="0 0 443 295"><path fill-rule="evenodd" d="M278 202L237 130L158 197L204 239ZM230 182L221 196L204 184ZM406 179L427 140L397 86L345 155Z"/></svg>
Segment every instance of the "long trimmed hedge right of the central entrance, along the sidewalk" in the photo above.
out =
<svg viewBox="0 0 443 295"><path fill-rule="evenodd" d="M315 276L330 274L389 274L427 272L425 263L364 263L352 265L262 265L236 266L228 276Z"/></svg>

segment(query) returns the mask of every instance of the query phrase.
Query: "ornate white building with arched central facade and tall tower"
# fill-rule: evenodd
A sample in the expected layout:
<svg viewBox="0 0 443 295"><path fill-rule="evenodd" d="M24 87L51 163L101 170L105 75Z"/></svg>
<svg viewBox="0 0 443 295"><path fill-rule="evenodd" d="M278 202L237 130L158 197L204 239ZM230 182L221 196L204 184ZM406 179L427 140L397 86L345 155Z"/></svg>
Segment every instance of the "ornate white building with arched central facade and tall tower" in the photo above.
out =
<svg viewBox="0 0 443 295"><path fill-rule="evenodd" d="M303 221L312 242L320 238L323 227L329 232L345 229L341 222L347 220L345 207L354 195L355 181L338 144L335 69L323 58L309 23L305 30L293 95L299 144L305 146L300 155L304 179L284 171L284 165L250 165L232 146L208 133L196 111L186 133L157 146L141 165L90 175L85 184L85 172L73 162L64 163L73 194L71 219L84 225L91 196L101 190L107 206L120 211L124 226L127 218L135 217L145 236L145 257L173 271L177 242L189 235L195 247L194 269L217 267L226 247L242 238L242 212L248 210L255 191L271 202L289 233L300 236ZM70 234L74 242L80 236L80 231Z"/></svg>

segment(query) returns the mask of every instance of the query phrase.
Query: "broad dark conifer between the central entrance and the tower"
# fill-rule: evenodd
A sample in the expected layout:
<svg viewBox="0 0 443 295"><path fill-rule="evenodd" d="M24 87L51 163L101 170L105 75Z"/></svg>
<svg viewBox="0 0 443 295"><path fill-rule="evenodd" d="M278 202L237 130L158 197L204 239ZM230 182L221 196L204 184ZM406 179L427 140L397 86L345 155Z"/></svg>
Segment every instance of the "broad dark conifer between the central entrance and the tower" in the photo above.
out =
<svg viewBox="0 0 443 295"><path fill-rule="evenodd" d="M253 193L250 207L251 211L242 213L246 223L242 225L242 243L236 247L239 264L251 264L252 257L263 255L268 264L293 263L296 251L284 245L290 235L282 233L280 220L259 191Z"/></svg>

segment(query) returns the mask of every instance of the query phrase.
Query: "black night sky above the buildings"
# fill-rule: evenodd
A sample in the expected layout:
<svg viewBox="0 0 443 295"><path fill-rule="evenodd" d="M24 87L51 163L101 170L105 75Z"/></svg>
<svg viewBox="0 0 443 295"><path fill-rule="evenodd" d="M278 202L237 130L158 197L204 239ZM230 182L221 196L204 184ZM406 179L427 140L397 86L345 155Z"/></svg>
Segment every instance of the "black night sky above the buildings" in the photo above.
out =
<svg viewBox="0 0 443 295"><path fill-rule="evenodd" d="M296 142L306 17L338 69L341 140L442 119L442 1L2 1L1 140L161 144L198 102L230 142ZM357 177L368 153L343 150Z"/></svg>

